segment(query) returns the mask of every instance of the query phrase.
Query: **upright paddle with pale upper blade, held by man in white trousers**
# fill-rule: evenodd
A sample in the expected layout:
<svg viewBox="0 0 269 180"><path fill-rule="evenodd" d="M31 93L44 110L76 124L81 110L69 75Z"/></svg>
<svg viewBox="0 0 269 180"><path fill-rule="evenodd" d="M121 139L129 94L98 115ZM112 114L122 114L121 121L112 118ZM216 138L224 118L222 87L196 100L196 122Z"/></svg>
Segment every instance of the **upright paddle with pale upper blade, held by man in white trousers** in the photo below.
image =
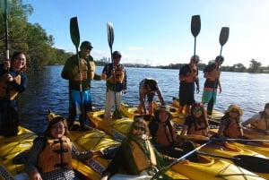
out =
<svg viewBox="0 0 269 180"><path fill-rule="evenodd" d="M110 48L110 55L111 55L111 61L113 64L113 69L114 69L114 59L112 56L112 46L113 46L113 42L114 42L114 30L113 30L113 24L111 22L107 23L107 30L108 30L108 45ZM112 119L121 119L121 113L120 111L117 109L117 97L116 97L116 83L115 83L115 74L113 75L114 78L114 89L115 89L115 111L113 113Z"/></svg>

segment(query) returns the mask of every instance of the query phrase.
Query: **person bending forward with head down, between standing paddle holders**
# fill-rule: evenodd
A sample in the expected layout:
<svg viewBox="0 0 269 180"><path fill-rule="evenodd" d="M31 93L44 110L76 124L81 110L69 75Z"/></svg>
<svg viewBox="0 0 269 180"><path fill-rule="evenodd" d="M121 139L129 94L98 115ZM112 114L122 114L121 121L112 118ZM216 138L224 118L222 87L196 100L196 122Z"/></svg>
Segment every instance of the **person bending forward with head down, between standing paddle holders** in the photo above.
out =
<svg viewBox="0 0 269 180"><path fill-rule="evenodd" d="M149 102L149 115L153 115L153 98L155 96L155 93L157 93L158 98L161 102L161 105L164 105L164 100L161 94L161 89L158 86L158 81L152 79L152 78L145 78L143 81L139 83L139 99L140 104L138 106L138 113L146 115L147 110L145 106L145 98L147 97Z"/></svg>

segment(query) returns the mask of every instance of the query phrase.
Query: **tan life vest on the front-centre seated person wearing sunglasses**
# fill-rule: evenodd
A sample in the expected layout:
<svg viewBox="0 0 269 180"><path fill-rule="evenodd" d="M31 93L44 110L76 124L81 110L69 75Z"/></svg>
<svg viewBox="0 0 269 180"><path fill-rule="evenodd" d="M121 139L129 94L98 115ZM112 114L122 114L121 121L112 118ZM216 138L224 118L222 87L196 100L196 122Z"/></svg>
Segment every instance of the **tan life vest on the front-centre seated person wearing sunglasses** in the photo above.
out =
<svg viewBox="0 0 269 180"><path fill-rule="evenodd" d="M142 150L142 148L135 141L131 141L134 163L140 172L152 166L157 166L156 156L150 143L150 141L146 141L147 147ZM150 157L146 156L144 150L149 151Z"/></svg>

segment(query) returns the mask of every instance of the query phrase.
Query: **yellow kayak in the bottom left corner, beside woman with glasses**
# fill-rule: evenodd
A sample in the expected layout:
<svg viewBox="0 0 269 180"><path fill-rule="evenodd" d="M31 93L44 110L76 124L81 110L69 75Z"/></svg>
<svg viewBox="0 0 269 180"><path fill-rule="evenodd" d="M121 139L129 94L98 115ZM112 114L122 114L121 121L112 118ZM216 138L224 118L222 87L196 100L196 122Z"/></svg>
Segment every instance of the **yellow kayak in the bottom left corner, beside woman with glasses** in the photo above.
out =
<svg viewBox="0 0 269 180"><path fill-rule="evenodd" d="M0 179L6 179L4 173L8 172L11 176L22 173L24 169L24 158L26 151L30 150L34 139L38 137L36 133L19 126L16 136L0 136ZM5 172L4 172L5 171Z"/></svg>

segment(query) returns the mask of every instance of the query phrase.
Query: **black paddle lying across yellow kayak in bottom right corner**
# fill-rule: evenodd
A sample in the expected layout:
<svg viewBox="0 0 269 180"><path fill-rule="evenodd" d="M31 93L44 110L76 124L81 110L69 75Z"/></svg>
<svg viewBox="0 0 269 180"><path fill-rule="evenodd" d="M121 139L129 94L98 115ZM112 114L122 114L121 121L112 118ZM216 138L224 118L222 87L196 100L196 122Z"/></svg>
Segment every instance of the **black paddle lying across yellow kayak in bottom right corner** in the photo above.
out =
<svg viewBox="0 0 269 180"><path fill-rule="evenodd" d="M268 173L269 172L269 159L263 159L260 157L247 156L247 155L223 157L223 156L218 156L218 155L209 154L209 153L200 152L200 151L197 151L196 153L200 155L204 155L204 156L213 157L213 158L229 159L235 165L239 167L243 167L255 173Z"/></svg>

